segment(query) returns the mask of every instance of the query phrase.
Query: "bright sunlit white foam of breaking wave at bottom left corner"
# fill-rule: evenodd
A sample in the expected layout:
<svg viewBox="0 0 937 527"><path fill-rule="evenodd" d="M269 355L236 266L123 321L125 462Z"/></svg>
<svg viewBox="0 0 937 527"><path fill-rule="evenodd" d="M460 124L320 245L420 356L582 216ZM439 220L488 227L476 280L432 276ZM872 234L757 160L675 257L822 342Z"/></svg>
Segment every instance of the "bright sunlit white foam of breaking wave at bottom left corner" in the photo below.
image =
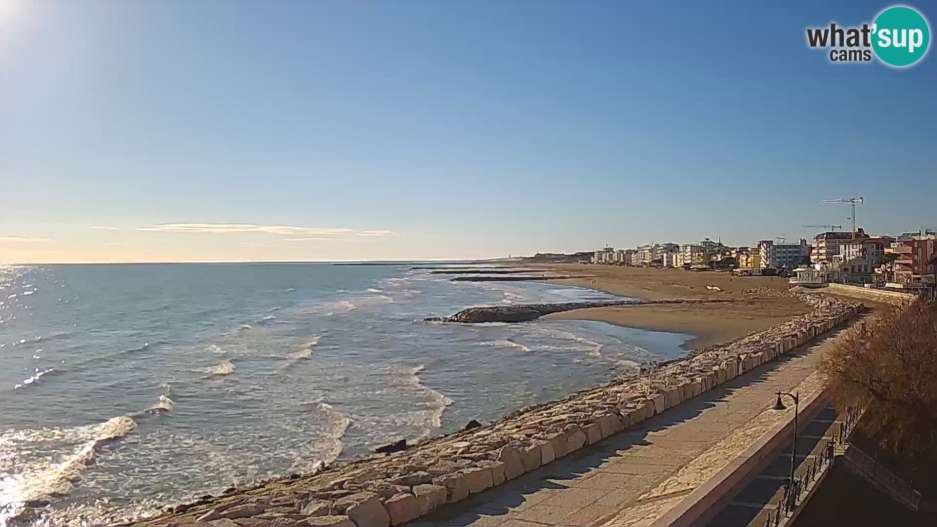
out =
<svg viewBox="0 0 937 527"><path fill-rule="evenodd" d="M0 459L12 462L12 470L5 469L10 475L0 480L0 525L21 515L27 504L52 502L70 493L101 447L136 427L132 418L122 415L76 429L11 429L0 434ZM52 454L30 456L55 444L75 446L71 454L59 454L58 461Z"/></svg>

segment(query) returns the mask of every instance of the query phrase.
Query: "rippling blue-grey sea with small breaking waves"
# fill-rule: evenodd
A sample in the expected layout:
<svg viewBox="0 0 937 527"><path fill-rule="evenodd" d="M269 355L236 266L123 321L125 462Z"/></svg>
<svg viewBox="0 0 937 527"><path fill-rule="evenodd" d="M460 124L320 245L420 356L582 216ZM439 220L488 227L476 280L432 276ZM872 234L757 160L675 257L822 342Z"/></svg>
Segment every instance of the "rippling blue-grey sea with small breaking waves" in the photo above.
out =
<svg viewBox="0 0 937 527"><path fill-rule="evenodd" d="M106 524L315 471L677 358L691 339L424 322L620 297L420 266L0 265L0 527ZM41 512L15 519L23 504Z"/></svg>

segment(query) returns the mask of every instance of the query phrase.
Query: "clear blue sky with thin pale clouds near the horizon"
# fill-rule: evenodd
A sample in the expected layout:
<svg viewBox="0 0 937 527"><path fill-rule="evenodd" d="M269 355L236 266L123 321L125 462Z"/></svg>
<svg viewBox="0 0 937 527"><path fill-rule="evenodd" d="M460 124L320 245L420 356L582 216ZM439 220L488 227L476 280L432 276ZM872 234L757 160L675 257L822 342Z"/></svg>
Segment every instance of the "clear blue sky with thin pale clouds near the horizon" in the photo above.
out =
<svg viewBox="0 0 937 527"><path fill-rule="evenodd" d="M937 56L806 43L891 5L0 0L0 264L937 227Z"/></svg>

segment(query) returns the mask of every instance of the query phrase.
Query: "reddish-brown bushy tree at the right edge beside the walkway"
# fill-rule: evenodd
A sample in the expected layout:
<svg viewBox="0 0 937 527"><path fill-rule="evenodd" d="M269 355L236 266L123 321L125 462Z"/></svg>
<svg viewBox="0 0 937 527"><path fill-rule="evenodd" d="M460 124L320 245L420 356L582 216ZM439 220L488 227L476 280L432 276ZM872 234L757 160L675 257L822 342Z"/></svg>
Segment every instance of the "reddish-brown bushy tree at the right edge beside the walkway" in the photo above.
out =
<svg viewBox="0 0 937 527"><path fill-rule="evenodd" d="M937 304L917 301L856 324L821 370L861 429L911 466L937 467Z"/></svg>

